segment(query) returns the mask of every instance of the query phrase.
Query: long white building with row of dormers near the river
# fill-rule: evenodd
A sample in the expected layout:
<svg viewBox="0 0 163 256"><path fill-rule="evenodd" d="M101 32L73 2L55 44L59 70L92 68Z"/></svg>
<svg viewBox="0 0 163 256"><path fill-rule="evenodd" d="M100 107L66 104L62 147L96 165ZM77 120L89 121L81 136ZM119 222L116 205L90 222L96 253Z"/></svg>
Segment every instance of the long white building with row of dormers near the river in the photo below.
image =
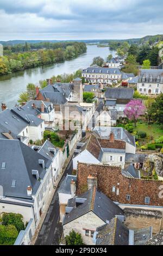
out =
<svg viewBox="0 0 163 256"><path fill-rule="evenodd" d="M90 67L82 71L85 82L112 84L121 80L122 72L117 68Z"/></svg>

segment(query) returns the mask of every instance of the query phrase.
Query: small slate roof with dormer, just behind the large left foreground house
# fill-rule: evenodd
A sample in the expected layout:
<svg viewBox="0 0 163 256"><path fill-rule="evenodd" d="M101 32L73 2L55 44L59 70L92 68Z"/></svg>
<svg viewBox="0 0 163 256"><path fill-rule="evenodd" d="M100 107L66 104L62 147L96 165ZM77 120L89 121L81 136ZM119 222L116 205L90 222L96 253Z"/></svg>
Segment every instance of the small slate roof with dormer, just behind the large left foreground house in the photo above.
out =
<svg viewBox="0 0 163 256"><path fill-rule="evenodd" d="M54 153L52 153L52 151L50 151L49 149L54 149ZM37 152L42 156L46 157L46 159L53 160L54 157L57 155L58 151L59 149L55 148L54 145L47 139Z"/></svg>

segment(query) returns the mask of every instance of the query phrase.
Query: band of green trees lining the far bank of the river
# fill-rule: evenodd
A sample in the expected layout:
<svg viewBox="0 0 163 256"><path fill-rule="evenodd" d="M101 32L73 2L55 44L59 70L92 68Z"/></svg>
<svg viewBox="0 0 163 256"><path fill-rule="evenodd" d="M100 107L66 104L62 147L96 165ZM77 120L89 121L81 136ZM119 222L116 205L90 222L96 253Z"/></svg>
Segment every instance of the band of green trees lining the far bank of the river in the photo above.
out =
<svg viewBox="0 0 163 256"><path fill-rule="evenodd" d="M43 42L43 44L45 43ZM43 48L36 51L9 53L3 57L0 57L0 75L9 74L18 70L35 68L36 66L45 64L62 62L64 60L76 58L79 56L79 54L86 52L86 44L84 42L63 42L49 44L55 45L53 46L54 48ZM26 47L28 47L28 44Z"/></svg>

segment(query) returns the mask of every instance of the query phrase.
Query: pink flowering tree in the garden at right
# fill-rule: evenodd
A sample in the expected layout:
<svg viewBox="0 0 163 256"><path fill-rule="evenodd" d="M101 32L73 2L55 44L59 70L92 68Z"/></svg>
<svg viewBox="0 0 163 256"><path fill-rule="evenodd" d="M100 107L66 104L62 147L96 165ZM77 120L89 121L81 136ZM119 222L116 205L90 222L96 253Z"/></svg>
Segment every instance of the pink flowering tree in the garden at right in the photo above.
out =
<svg viewBox="0 0 163 256"><path fill-rule="evenodd" d="M129 120L133 120L135 127L137 119L143 114L145 110L145 106L143 105L141 100L131 100L124 109L124 114L128 117Z"/></svg>

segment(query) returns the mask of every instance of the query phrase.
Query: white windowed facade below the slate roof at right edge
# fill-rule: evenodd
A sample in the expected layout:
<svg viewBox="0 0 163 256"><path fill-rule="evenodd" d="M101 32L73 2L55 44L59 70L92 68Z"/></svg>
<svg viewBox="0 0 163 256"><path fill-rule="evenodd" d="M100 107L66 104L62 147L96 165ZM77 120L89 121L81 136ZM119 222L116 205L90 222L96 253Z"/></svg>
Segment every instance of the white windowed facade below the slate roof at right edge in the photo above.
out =
<svg viewBox="0 0 163 256"><path fill-rule="evenodd" d="M162 83L137 83L137 91L141 94L160 94L163 92Z"/></svg>

